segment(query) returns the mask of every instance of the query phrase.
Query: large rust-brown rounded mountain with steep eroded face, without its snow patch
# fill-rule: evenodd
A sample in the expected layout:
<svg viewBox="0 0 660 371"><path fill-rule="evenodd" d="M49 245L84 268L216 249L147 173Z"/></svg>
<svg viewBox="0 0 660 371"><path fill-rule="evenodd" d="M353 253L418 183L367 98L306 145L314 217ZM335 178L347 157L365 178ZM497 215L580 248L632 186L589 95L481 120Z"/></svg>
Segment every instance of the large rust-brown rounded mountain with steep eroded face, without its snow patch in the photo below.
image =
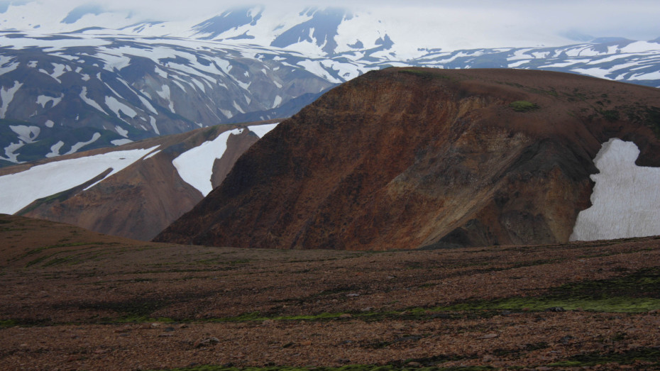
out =
<svg viewBox="0 0 660 371"><path fill-rule="evenodd" d="M591 206L603 143L632 142L636 164L657 167L659 133L652 87L528 70L368 72L280 123L155 240L346 250L563 243Z"/></svg>

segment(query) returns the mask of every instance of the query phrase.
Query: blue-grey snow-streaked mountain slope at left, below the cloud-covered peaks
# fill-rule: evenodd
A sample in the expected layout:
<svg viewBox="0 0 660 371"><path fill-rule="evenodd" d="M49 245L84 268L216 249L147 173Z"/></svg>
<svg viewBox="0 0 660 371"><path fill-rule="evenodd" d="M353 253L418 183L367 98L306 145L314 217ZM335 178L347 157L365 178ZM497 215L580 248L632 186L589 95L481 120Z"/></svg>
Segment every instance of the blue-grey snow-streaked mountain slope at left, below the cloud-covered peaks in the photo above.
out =
<svg viewBox="0 0 660 371"><path fill-rule="evenodd" d="M242 48L207 44L0 34L0 160L26 162L290 116L302 107L290 107L301 96L334 86L288 67L282 61L292 57L277 51L249 49L261 51L259 59L243 57Z"/></svg>

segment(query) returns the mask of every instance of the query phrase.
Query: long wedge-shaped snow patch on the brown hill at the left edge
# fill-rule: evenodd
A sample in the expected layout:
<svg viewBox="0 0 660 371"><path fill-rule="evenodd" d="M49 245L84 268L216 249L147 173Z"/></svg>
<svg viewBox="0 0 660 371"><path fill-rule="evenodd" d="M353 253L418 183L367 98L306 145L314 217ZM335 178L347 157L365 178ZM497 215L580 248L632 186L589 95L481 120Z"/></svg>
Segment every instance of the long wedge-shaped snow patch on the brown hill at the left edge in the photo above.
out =
<svg viewBox="0 0 660 371"><path fill-rule="evenodd" d="M112 169L110 177L120 172L153 148L123 150L70 160L53 161L24 172L0 177L0 213L14 214L36 199L77 187Z"/></svg>

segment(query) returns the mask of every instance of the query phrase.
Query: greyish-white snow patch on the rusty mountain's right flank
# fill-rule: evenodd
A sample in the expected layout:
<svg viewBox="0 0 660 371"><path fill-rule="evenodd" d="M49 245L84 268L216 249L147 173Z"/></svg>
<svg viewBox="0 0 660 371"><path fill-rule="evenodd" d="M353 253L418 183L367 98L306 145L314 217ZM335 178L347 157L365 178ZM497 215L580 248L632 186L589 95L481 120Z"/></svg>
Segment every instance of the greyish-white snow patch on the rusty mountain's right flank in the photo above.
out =
<svg viewBox="0 0 660 371"><path fill-rule="evenodd" d="M660 168L639 167L637 145L612 138L594 159L600 174L589 209L578 214L570 240L605 240L660 234Z"/></svg>

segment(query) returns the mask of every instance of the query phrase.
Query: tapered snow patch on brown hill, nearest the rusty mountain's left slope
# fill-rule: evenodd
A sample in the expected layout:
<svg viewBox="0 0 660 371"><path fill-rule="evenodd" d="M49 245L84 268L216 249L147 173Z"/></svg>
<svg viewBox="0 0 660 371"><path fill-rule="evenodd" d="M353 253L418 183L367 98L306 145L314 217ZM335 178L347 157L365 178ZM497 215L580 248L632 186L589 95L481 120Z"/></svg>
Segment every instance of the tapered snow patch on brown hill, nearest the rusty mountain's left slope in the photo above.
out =
<svg viewBox="0 0 660 371"><path fill-rule="evenodd" d="M214 162L216 159L221 158L227 150L229 135L241 133L243 133L243 129L225 131L214 140L204 142L182 153L172 160L172 165L176 167L184 182L202 192L203 196L207 196L213 190L211 176L213 175Z"/></svg>

